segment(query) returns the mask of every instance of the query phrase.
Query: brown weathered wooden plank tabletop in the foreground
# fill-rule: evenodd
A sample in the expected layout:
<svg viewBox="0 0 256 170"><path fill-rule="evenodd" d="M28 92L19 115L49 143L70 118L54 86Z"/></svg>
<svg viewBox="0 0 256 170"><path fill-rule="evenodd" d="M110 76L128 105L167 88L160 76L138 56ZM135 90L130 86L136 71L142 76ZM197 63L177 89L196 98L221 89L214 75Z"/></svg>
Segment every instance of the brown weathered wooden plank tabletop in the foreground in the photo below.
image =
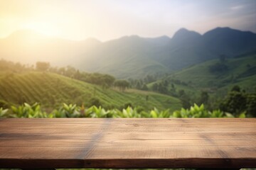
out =
<svg viewBox="0 0 256 170"><path fill-rule="evenodd" d="M256 167L256 119L0 119L0 168L87 167Z"/></svg>

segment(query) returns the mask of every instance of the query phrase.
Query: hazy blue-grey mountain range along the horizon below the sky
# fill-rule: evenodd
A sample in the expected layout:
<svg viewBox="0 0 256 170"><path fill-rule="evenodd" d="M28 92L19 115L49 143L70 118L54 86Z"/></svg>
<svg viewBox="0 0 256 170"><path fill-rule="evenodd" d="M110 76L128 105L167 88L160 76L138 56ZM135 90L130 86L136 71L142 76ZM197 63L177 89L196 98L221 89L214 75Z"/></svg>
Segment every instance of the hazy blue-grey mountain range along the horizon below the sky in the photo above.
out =
<svg viewBox="0 0 256 170"><path fill-rule="evenodd" d="M45 61L59 67L71 65L120 79L174 72L220 55L235 57L255 50L255 33L232 28L215 28L203 35L181 28L172 38L132 35L107 42L48 38L31 30L19 30L0 39L0 58L33 64Z"/></svg>

